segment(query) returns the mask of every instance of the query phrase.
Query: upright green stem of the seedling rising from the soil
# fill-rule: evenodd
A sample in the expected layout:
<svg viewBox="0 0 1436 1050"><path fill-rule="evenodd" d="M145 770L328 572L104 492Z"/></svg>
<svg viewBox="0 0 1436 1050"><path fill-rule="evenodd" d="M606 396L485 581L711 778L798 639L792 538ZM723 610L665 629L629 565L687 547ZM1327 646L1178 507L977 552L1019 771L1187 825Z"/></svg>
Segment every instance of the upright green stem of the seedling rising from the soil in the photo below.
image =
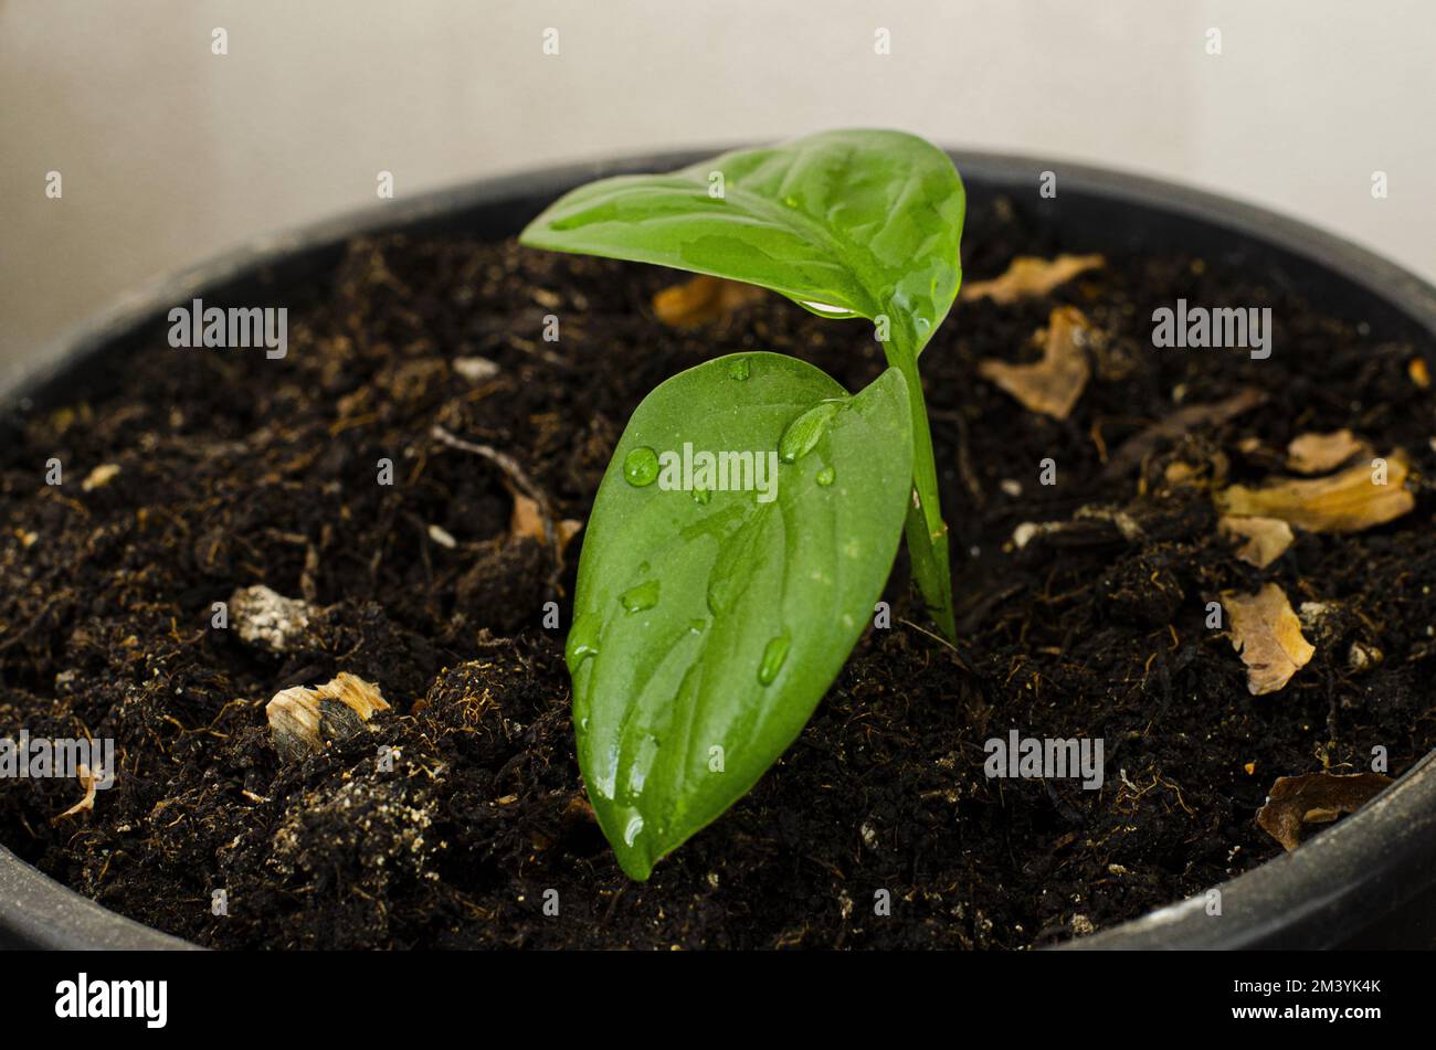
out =
<svg viewBox="0 0 1436 1050"><path fill-rule="evenodd" d="M922 376L916 356L898 343L883 343L887 363L896 367L908 383L908 405L912 409L912 491L908 521L908 555L918 592L928 607L928 615L949 641L958 640L952 612L952 569L948 559L948 525L942 521L938 501L938 466L932 455L932 430L928 427L928 403L922 394Z"/></svg>

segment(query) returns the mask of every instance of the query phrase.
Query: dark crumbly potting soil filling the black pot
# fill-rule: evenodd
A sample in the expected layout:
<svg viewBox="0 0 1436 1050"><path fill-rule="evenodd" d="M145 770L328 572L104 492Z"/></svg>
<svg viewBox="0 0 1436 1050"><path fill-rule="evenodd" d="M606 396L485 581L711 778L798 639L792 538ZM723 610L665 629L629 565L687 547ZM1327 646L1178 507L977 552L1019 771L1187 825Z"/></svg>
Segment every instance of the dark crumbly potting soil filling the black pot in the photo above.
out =
<svg viewBox="0 0 1436 1050"><path fill-rule="evenodd" d="M1106 247L1055 242L989 201L969 217L968 280L1018 254ZM284 360L174 350L159 331L86 366L73 402L24 420L0 455L0 734L113 737L121 770L72 816L76 780L7 782L0 841L215 947L1020 948L1277 855L1254 813L1278 776L1366 770L1376 746L1394 775L1436 746L1436 501L1422 481L1436 478L1436 427L1409 372L1432 349L1376 341L1239 260L1110 255L1050 297L959 303L923 354L958 647L928 634L899 555L890 630L867 633L783 760L648 884L628 881L584 800L564 631L541 623L550 597L564 627L570 614L549 590L551 554L510 534L501 470L431 427L513 456L556 516L584 519L629 413L668 376L740 349L800 356L849 389L882 367L869 326L777 298L668 328L651 300L676 280L389 237L350 245L312 288L276 291L292 297ZM1269 306L1272 356L1153 350L1152 310L1178 297ZM1058 303L1100 330L1066 422L976 369L1034 360ZM464 357L497 373L465 377ZM1155 422L1248 386L1265 403L1104 476ZM1291 438L1338 427L1406 449L1414 511L1356 535L1298 532L1265 571L1238 561L1211 486L1259 481ZM50 458L60 486L45 483ZM392 486L376 483L383 458ZM1192 483L1165 481L1175 460ZM119 472L95 483L106 463ZM1022 522L1094 506L1140 532L1088 509L1078 528L1011 542ZM1311 663L1251 696L1206 602L1267 580L1327 615L1308 630ZM211 627L213 602L260 582L323 608L287 653ZM1353 643L1381 661L1354 670ZM392 710L370 734L281 762L266 701L339 671L378 683ZM988 779L984 742L1014 729L1101 737L1101 789ZM875 914L879 891L890 915Z"/></svg>

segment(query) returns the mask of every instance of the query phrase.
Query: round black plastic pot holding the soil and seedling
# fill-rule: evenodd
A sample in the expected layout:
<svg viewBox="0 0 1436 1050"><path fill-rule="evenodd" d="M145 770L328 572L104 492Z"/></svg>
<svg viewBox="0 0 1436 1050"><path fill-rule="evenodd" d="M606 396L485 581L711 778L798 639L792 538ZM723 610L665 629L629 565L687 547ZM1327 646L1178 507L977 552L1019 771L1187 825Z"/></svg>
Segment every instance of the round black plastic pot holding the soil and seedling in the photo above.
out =
<svg viewBox="0 0 1436 1050"><path fill-rule="evenodd" d="M663 171L704 153L549 169L490 179L273 237L136 291L0 389L0 440L26 412L73 397L122 367L162 330L169 307L195 295L274 301L330 270L356 234L405 230L508 237L560 192L599 175ZM1324 311L1366 321L1373 340L1436 344L1436 290L1404 270L1292 219L1209 194L1070 164L954 153L974 199L1030 201L1064 241L1087 251L1192 250L1300 287ZM1040 199L1043 171L1058 197ZM1436 367L1436 360L1430 364ZM1436 690L1433 690L1436 704ZM1221 886L1221 915L1198 897L1084 938L1077 948L1327 948L1436 945L1436 752L1358 813L1298 851ZM184 948L182 941L115 915L0 848L0 945L39 948Z"/></svg>

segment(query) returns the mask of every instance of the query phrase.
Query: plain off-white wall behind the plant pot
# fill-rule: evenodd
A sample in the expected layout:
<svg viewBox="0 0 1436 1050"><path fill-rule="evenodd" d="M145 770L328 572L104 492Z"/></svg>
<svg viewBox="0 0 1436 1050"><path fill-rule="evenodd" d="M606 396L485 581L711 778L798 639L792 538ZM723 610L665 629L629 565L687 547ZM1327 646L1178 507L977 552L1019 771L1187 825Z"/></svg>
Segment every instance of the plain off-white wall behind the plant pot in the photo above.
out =
<svg viewBox="0 0 1436 1050"><path fill-rule="evenodd" d="M0 0L0 369L381 169L852 125L1215 188L1436 280L1433 44L1430 0Z"/></svg>

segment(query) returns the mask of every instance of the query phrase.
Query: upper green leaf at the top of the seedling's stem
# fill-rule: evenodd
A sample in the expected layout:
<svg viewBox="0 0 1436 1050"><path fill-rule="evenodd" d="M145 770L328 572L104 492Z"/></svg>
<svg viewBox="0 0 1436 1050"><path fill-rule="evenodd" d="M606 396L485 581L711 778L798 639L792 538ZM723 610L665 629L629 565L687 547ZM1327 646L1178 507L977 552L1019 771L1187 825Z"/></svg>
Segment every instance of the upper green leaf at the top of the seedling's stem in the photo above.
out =
<svg viewBox="0 0 1436 1050"><path fill-rule="evenodd" d="M836 131L590 182L520 240L758 284L829 317L885 314L916 357L958 294L964 205L936 146Z"/></svg>

